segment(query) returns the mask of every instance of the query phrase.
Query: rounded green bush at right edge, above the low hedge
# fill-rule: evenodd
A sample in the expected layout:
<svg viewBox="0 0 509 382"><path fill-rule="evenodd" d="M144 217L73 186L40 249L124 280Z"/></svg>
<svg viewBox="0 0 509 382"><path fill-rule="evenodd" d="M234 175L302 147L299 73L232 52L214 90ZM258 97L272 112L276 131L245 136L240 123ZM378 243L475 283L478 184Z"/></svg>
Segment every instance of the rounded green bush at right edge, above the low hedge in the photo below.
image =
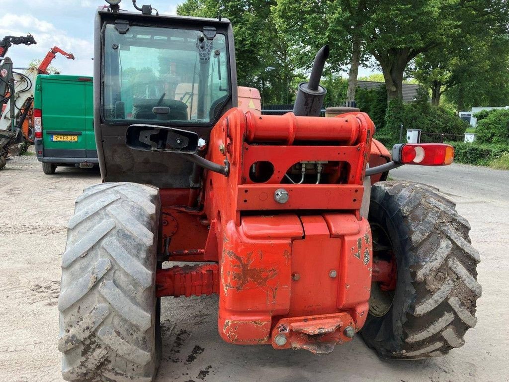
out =
<svg viewBox="0 0 509 382"><path fill-rule="evenodd" d="M475 127L479 143L509 144L509 110L498 109L488 113Z"/></svg>

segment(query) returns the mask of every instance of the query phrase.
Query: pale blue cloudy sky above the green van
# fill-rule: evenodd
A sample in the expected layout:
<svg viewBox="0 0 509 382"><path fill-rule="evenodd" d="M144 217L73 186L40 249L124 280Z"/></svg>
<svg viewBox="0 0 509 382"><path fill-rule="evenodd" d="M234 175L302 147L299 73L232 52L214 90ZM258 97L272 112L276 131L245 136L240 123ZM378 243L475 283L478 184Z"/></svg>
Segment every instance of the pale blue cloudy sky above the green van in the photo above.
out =
<svg viewBox="0 0 509 382"><path fill-rule="evenodd" d="M3 16L0 17L0 38L26 36L32 33L37 45L13 45L9 56L15 67L25 67L34 59L42 60L48 50L58 46L74 54L67 60L60 54L51 63L62 74L92 75L94 15L103 0L0 0ZM126 3L126 4L124 4ZM181 0L138 1L152 3L159 13L176 14ZM125 0L122 8L131 10L132 3Z"/></svg>

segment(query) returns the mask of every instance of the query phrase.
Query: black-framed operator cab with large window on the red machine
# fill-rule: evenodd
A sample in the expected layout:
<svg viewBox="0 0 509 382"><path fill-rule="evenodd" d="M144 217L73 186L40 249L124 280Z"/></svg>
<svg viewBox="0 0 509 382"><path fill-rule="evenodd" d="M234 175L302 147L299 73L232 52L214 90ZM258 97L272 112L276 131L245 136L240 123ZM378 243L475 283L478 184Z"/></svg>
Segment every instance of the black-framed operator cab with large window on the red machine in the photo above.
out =
<svg viewBox="0 0 509 382"><path fill-rule="evenodd" d="M101 175L199 187L193 163L174 153L135 151L126 145L126 131L133 124L167 126L207 143L214 124L238 103L232 26L227 19L145 13L114 5L97 13L94 126Z"/></svg>

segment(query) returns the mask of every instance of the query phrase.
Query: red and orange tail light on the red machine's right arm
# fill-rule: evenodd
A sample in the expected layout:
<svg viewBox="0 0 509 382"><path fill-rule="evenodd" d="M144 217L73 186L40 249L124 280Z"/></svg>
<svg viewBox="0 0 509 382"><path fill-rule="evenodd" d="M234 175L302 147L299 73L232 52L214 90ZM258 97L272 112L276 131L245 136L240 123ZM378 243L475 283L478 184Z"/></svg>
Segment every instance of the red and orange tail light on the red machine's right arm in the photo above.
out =
<svg viewBox="0 0 509 382"><path fill-rule="evenodd" d="M454 147L442 143L395 145L392 159L403 165L447 166L453 162Z"/></svg>

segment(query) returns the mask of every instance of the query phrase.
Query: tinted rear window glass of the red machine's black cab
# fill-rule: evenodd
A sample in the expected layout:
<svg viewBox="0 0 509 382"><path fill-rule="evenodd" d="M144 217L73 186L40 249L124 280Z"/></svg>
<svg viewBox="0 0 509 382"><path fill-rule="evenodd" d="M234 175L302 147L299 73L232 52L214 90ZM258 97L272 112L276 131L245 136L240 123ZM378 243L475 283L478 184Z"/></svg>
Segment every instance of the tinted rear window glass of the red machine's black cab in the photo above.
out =
<svg viewBox="0 0 509 382"><path fill-rule="evenodd" d="M106 25L102 116L107 122L208 124L231 93L225 36Z"/></svg>

